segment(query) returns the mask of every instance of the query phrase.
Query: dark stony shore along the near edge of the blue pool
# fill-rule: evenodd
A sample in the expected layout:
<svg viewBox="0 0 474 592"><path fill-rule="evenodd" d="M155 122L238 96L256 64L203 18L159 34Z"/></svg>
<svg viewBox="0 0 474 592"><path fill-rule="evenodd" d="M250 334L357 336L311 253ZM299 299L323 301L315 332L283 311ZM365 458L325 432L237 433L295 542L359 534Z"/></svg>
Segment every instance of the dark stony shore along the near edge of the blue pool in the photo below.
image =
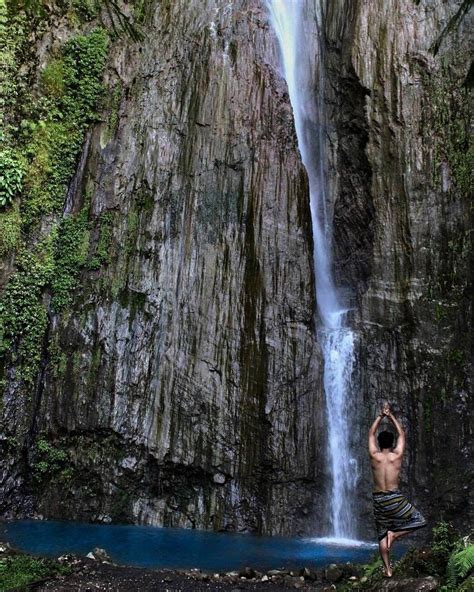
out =
<svg viewBox="0 0 474 592"><path fill-rule="evenodd" d="M115 565L104 549L94 549L87 557L64 555L55 561L18 553L8 544L0 543L0 591L24 590L24 585L10 587L3 576L8 565L19 557L47 563L50 573L27 583L28 590L37 592L92 592L108 590L130 592L140 590L168 592L188 590L262 590L299 589L315 592L332 590L399 590L421 592L438 590L440 580L433 576L394 577L384 580L377 562L369 565L331 564L325 568L271 569L259 571L244 567L236 571L209 573L200 569L145 569Z"/></svg>

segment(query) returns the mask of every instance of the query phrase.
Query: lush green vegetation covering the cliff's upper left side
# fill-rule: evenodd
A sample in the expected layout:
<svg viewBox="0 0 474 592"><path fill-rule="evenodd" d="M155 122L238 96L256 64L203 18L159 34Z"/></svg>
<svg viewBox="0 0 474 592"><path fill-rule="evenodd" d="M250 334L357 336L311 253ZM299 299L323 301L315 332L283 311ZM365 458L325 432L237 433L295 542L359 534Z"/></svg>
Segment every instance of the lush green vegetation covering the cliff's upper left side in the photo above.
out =
<svg viewBox="0 0 474 592"><path fill-rule="evenodd" d="M17 378L26 385L33 383L45 347L48 311L70 305L81 270L98 269L107 260L111 238L110 220L89 220L87 199L80 211L62 215L85 135L104 105L102 77L110 32L103 26L80 32L78 17L86 4L65 4L65 10L75 10L75 24L38 79L28 37L42 24L47 26L49 4L0 0L5 48L0 79L0 256L15 261L0 300L0 358L15 365ZM97 5L97 16L98 3L92 4ZM83 17L91 20L93 14ZM87 263L94 226L100 238Z"/></svg>

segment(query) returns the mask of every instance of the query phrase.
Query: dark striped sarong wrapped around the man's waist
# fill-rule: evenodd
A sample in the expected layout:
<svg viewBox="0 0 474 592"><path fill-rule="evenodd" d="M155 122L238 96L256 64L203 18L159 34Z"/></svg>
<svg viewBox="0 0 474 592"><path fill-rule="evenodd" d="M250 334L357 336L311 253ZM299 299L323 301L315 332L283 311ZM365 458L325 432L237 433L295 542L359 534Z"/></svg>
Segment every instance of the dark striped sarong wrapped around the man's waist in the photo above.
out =
<svg viewBox="0 0 474 592"><path fill-rule="evenodd" d="M379 541L389 530L416 530L426 526L421 512L410 504L398 489L392 491L374 491L374 518Z"/></svg>

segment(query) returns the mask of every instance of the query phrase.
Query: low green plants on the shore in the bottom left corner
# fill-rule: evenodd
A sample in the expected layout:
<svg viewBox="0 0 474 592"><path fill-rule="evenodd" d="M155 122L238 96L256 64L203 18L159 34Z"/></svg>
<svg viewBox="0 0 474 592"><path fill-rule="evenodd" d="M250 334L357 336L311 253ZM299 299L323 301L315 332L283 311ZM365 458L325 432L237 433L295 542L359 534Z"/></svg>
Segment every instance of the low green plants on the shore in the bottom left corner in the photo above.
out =
<svg viewBox="0 0 474 592"><path fill-rule="evenodd" d="M13 555L0 559L0 592L21 589L32 582L69 573L71 568L57 561Z"/></svg>

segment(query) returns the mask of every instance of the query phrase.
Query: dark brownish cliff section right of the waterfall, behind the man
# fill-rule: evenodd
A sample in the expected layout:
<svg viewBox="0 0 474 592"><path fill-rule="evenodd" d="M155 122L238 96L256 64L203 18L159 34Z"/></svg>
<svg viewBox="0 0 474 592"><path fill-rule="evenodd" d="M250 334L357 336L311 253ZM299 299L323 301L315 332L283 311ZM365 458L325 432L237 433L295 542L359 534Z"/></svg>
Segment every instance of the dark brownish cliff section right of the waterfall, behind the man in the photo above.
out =
<svg viewBox="0 0 474 592"><path fill-rule="evenodd" d="M336 273L353 290L358 331L355 446L365 446L376 405L393 401L408 438L402 486L431 518L464 526L473 521L469 4L332 1L325 29ZM367 504L361 525L370 518Z"/></svg>

